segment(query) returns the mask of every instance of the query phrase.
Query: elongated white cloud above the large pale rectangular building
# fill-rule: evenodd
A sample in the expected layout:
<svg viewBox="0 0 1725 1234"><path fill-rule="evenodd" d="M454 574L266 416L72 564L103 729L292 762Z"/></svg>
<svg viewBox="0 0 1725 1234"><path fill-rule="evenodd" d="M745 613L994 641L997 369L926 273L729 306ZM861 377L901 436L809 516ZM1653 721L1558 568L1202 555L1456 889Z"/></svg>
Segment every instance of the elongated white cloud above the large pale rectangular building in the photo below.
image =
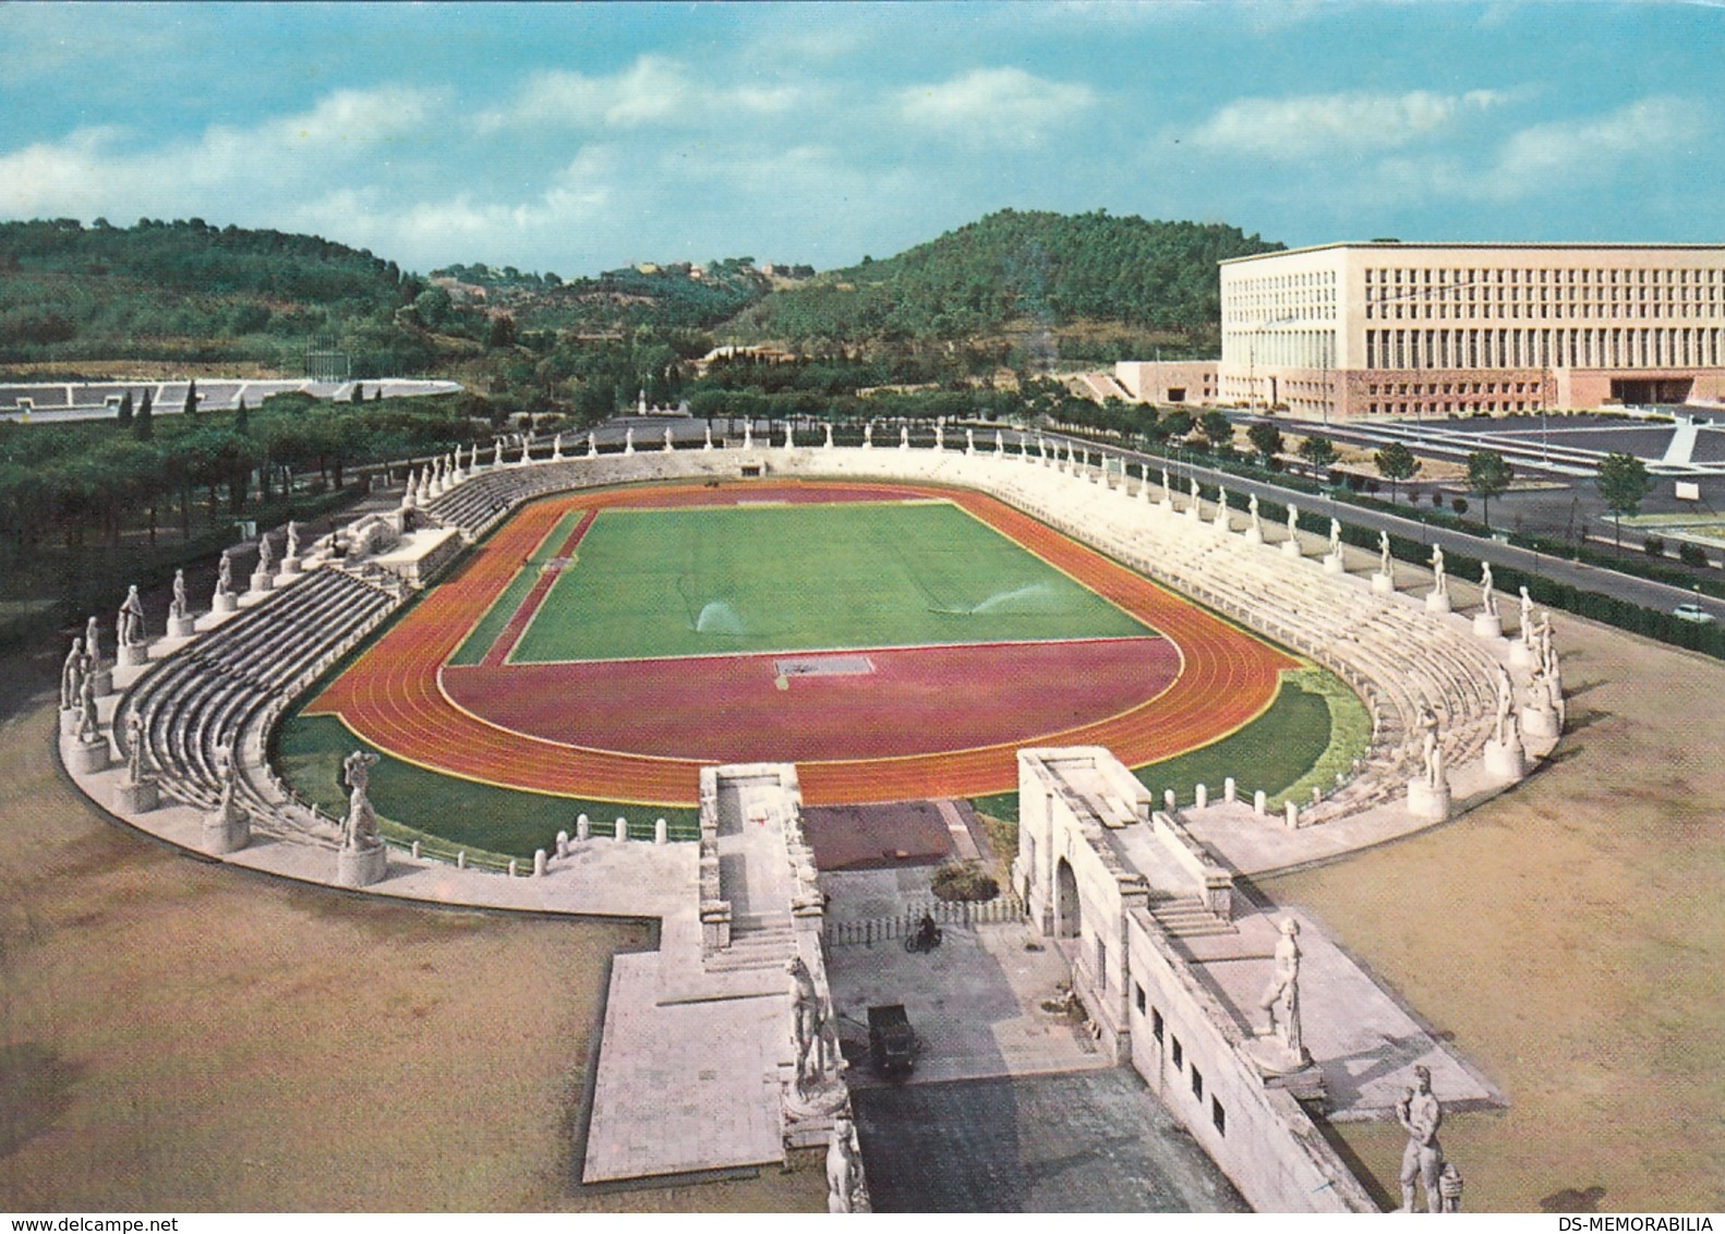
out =
<svg viewBox="0 0 1725 1234"><path fill-rule="evenodd" d="M1201 148L1261 159L1387 150L1440 133L1461 119L1502 105L1513 93L1471 90L1437 95L1302 95L1240 98L1211 115L1190 141Z"/></svg>

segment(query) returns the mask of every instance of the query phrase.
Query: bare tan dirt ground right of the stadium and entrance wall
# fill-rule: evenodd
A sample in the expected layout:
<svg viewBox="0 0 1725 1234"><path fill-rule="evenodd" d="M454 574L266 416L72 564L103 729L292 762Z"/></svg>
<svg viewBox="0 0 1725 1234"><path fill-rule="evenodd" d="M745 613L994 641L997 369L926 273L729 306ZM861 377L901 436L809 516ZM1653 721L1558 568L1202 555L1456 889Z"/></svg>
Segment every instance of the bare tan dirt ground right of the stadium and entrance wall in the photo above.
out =
<svg viewBox="0 0 1725 1234"><path fill-rule="evenodd" d="M1556 619L1570 734L1520 789L1266 881L1509 1100L1451 1113L1468 1210L1725 1208L1725 665ZM1442 1098L1442 1093L1439 1093ZM1337 1129L1380 1201L1404 1136Z"/></svg>

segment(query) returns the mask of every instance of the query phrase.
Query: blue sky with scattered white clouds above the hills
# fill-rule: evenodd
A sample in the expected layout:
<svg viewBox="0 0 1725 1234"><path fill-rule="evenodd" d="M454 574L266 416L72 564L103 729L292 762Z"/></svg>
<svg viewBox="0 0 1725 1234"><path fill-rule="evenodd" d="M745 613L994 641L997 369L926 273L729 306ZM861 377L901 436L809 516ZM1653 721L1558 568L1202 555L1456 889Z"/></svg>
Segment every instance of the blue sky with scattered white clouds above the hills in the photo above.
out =
<svg viewBox="0 0 1725 1234"><path fill-rule="evenodd" d="M0 217L573 276L1002 207L1722 241L1725 7L0 5Z"/></svg>

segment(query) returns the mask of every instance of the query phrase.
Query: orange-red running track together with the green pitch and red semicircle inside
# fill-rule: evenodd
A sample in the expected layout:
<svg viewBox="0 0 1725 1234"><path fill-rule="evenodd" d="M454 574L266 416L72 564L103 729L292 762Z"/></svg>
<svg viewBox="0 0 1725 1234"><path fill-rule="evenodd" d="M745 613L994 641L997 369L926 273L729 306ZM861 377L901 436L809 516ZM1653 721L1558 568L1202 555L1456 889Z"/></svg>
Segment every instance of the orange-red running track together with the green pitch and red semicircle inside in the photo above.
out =
<svg viewBox="0 0 1725 1234"><path fill-rule="evenodd" d="M795 762L811 805L1128 765L1259 715L1297 660L980 493L731 483L524 507L305 708L502 788L688 807Z"/></svg>

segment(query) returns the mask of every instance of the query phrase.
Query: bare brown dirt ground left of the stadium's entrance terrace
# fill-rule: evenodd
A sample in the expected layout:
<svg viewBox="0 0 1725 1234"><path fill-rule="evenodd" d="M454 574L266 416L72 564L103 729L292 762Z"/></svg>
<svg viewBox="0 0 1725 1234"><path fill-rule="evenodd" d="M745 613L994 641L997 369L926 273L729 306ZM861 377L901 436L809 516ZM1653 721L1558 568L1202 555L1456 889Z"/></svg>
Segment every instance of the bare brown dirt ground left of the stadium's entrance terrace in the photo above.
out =
<svg viewBox="0 0 1725 1234"><path fill-rule="evenodd" d="M818 1160L574 1187L605 960L647 926L188 858L62 779L45 698L0 700L0 1210L825 1210Z"/></svg>

